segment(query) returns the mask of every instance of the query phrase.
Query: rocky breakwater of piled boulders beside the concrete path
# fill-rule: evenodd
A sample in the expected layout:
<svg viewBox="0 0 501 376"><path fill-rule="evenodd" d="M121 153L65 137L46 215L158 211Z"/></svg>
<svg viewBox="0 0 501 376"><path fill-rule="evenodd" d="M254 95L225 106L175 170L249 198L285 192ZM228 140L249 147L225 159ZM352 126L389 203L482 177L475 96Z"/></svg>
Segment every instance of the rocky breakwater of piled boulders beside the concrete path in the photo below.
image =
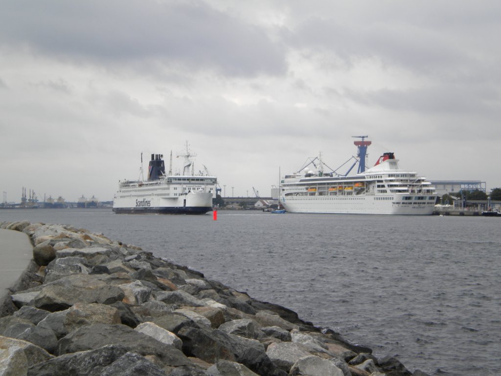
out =
<svg viewBox="0 0 501 376"><path fill-rule="evenodd" d="M2 304L0 375L424 375L102 234L0 227L34 245Z"/></svg>

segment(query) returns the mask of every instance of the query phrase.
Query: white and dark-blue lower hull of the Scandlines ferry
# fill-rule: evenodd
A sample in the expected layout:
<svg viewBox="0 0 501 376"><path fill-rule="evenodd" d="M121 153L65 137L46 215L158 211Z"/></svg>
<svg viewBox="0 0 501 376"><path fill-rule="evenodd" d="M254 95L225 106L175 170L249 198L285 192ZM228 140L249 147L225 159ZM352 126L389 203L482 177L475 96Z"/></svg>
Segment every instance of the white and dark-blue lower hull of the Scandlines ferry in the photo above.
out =
<svg viewBox="0 0 501 376"><path fill-rule="evenodd" d="M113 212L117 214L205 214L212 211L212 196L212 193L190 192L170 198L157 196L119 198L113 202Z"/></svg>

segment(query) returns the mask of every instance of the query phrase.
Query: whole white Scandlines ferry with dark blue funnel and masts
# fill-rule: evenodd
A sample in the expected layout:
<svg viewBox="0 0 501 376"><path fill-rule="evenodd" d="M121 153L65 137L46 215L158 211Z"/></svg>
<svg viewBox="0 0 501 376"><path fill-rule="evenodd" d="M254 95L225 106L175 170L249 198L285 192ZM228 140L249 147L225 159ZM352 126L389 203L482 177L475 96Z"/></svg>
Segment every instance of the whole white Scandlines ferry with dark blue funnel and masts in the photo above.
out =
<svg viewBox="0 0 501 376"><path fill-rule="evenodd" d="M165 174L162 154L151 154L147 180L123 180L113 199L113 212L117 214L205 214L212 211L212 198L216 193L216 176L194 174L194 165L186 143L182 174ZM142 154L141 154L142 164ZM191 167L191 173L190 173ZM142 167L141 167L142 174Z"/></svg>

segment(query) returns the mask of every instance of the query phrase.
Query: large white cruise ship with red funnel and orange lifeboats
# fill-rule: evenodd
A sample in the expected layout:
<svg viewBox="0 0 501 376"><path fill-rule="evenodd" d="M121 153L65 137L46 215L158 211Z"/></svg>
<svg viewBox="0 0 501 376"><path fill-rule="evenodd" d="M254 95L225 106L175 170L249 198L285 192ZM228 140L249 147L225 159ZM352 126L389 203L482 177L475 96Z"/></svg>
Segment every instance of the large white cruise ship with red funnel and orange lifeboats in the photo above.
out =
<svg viewBox="0 0 501 376"><path fill-rule="evenodd" d="M281 179L280 201L291 213L346 213L430 215L436 201L435 186L414 171L400 169L393 152L384 153L365 170L367 136L355 141L358 146L358 173L348 176L325 172L322 156L305 170ZM307 165L306 167L308 167Z"/></svg>

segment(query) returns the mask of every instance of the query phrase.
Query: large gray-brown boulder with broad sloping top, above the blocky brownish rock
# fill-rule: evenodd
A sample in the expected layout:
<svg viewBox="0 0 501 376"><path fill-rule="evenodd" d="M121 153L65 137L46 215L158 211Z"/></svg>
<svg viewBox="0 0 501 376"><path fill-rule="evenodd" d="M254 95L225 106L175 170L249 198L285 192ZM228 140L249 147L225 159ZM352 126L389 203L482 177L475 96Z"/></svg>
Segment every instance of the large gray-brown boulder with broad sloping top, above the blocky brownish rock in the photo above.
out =
<svg viewBox="0 0 501 376"><path fill-rule="evenodd" d="M48 311L61 311L78 302L112 304L123 297L122 289L107 285L99 276L76 274L44 286L34 304Z"/></svg>

